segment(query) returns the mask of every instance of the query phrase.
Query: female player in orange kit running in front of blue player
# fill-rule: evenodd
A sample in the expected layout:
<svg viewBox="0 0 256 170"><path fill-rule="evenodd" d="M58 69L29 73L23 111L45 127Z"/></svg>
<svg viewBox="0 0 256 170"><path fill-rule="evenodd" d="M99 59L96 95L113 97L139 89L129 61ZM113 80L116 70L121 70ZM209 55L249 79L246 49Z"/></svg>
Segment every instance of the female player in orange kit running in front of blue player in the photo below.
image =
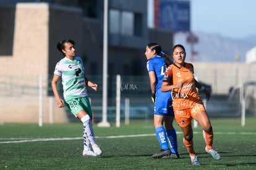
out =
<svg viewBox="0 0 256 170"><path fill-rule="evenodd" d="M161 91L172 91L175 119L184 134L183 142L189 152L191 163L200 165L193 147L192 118L203 129L203 138L206 143L205 151L210 153L214 159L221 159L220 154L213 150L213 129L196 88L205 93L207 100L210 98L210 93L194 79L193 65L185 62L186 51L184 46L174 46L173 58L174 64L171 64L164 73Z"/></svg>

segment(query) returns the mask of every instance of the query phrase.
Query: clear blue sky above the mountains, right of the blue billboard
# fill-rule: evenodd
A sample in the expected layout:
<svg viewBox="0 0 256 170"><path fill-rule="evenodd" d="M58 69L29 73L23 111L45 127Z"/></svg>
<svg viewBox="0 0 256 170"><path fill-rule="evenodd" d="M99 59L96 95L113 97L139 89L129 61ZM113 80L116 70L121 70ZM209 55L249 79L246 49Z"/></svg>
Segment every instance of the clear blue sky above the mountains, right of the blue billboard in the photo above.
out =
<svg viewBox="0 0 256 170"><path fill-rule="evenodd" d="M256 35L255 0L190 0L190 28L230 38Z"/></svg>

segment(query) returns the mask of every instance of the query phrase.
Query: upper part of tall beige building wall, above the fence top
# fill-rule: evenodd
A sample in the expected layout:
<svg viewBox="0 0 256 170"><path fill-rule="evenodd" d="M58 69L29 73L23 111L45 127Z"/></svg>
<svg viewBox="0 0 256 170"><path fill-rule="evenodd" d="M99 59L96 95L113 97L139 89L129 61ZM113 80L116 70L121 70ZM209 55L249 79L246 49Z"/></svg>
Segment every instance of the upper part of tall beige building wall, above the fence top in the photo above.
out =
<svg viewBox="0 0 256 170"><path fill-rule="evenodd" d="M12 19L15 25L14 31L5 27L1 32L1 34L14 35L12 52L9 53L11 55L0 57L1 74L46 75L48 73L48 5L17 4L15 17Z"/></svg>

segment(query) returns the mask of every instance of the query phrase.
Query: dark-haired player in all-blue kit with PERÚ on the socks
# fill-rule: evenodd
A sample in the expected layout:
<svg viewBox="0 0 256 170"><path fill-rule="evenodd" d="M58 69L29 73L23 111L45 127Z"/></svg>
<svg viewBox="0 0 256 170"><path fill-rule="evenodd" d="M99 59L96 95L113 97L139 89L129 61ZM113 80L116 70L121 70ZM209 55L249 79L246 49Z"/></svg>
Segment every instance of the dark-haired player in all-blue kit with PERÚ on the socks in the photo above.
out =
<svg viewBox="0 0 256 170"><path fill-rule="evenodd" d="M152 155L152 158L179 158L179 153L177 152L177 135L173 127L174 113L171 93L161 91L166 67L173 64L173 62L171 61L171 57L161 51L161 46L157 43L147 45L145 56L148 60L147 69L150 78L151 99L155 103L154 126L156 137L161 146L160 152ZM171 150L169 150L168 143Z"/></svg>

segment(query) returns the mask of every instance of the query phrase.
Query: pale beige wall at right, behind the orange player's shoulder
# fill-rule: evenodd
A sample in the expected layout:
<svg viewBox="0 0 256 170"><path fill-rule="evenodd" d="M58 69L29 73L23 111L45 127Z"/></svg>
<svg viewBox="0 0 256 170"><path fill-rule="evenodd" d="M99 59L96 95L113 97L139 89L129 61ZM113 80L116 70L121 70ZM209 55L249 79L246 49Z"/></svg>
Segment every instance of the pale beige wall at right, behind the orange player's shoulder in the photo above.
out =
<svg viewBox="0 0 256 170"><path fill-rule="evenodd" d="M237 83L256 81L255 64L235 62L193 62L195 76L211 85L213 94L228 94Z"/></svg>

